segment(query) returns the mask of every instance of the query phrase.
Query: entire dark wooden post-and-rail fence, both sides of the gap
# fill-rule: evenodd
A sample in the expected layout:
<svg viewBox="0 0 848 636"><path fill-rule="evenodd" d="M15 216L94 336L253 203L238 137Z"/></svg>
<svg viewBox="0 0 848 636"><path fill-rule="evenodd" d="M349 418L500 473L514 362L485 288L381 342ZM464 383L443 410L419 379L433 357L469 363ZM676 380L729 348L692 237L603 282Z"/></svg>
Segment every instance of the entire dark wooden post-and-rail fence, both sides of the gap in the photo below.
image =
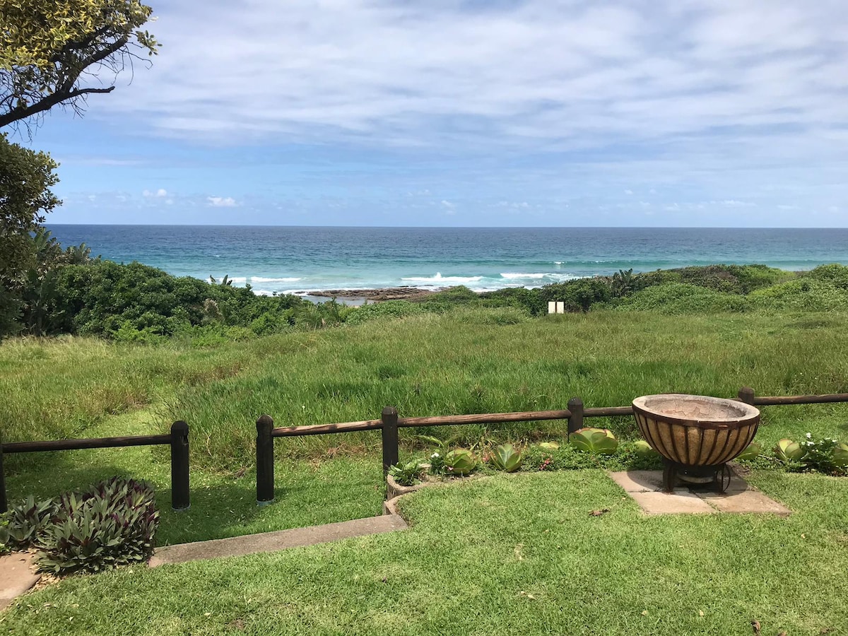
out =
<svg viewBox="0 0 848 636"><path fill-rule="evenodd" d="M782 404L828 404L848 402L848 393L828 395L790 395L757 397L753 389L739 389L739 401L755 406ZM478 413L467 416L399 417L398 411L387 406L379 420L347 421L338 424L316 424L310 426L275 428L271 416L261 416L256 421L256 502L259 505L274 500L274 438L292 438L304 435L326 435L329 433L355 431L381 431L382 469L385 474L389 466L398 463L400 428L442 427L462 424L494 424L510 421L567 420L568 433L583 428L587 417L630 416L632 406L605 406L586 408L583 400L568 400L566 410L531 410L515 413ZM188 425L176 421L165 435L137 435L124 438L60 439L46 442L11 442L0 444L0 512L7 510L6 483L3 473L3 455L8 453L37 453L48 450L105 449L126 446L153 446L170 444L171 506L174 510L185 510L189 506L188 483Z"/></svg>

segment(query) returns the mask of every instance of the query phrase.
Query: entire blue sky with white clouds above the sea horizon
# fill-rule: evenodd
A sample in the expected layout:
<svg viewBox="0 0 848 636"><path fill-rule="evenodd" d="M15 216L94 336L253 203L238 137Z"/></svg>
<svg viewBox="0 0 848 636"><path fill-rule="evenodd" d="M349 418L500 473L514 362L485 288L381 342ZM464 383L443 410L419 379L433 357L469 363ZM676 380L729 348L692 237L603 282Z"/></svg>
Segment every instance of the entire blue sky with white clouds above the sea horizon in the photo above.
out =
<svg viewBox="0 0 848 636"><path fill-rule="evenodd" d="M168 0L48 223L848 226L844 0Z"/></svg>

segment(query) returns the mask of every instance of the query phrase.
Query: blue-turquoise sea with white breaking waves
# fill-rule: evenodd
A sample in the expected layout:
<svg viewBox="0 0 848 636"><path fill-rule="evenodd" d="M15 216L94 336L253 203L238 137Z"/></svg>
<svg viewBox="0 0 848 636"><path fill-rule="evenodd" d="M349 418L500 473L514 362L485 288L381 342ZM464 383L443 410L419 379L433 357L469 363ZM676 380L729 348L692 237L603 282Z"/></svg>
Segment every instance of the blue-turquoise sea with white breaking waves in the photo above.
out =
<svg viewBox="0 0 848 636"><path fill-rule="evenodd" d="M539 287L618 270L848 265L848 229L49 225L65 245L256 293L378 287Z"/></svg>

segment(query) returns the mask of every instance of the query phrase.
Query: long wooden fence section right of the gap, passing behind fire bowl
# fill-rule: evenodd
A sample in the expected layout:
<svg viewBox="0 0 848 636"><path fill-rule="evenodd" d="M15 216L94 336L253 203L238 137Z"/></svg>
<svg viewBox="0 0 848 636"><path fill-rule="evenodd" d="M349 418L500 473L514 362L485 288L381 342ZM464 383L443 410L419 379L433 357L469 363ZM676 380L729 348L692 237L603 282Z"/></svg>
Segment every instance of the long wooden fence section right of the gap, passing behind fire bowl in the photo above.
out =
<svg viewBox="0 0 848 636"><path fill-rule="evenodd" d="M827 404L848 402L848 393L828 395L789 395L757 397L750 387L739 389L736 399L755 406L774 406L780 404ZM326 435L338 432L381 431L382 432L382 470L385 475L389 466L398 463L399 428L442 427L461 424L494 424L510 421L567 420L568 434L583 428L587 417L615 417L633 415L633 406L605 406L586 408L583 400L568 400L567 410L532 410L517 413L478 413L468 416L398 416L393 406L382 410L379 420L346 421L338 424L316 424L312 426L275 428L271 416L261 416L256 421L256 502L259 505L270 504L274 500L274 438L293 438L304 435Z"/></svg>

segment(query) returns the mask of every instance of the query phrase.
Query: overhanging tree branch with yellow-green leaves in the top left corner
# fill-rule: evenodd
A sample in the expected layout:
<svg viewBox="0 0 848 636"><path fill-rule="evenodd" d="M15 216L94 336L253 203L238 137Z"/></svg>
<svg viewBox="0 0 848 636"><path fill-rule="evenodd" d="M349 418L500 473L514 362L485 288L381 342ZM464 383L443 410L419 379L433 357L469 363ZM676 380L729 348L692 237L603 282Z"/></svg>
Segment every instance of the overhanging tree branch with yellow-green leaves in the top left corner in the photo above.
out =
<svg viewBox="0 0 848 636"><path fill-rule="evenodd" d="M111 92L103 71L114 81L138 53L157 52L139 30L152 11L139 0L0 0L0 127Z"/></svg>

